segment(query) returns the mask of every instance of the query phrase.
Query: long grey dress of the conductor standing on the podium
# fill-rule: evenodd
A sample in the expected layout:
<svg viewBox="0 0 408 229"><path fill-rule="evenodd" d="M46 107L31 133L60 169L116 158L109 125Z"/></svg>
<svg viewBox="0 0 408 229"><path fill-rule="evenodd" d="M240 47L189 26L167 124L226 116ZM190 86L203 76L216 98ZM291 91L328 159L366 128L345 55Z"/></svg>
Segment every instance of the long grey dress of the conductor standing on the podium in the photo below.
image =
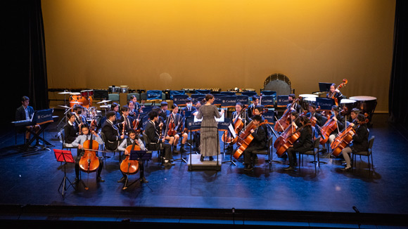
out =
<svg viewBox="0 0 408 229"><path fill-rule="evenodd" d="M200 152L204 157L215 156L219 154L219 139L217 121L215 117L220 118L215 105L202 105L198 110L197 119L203 119L200 129Z"/></svg>

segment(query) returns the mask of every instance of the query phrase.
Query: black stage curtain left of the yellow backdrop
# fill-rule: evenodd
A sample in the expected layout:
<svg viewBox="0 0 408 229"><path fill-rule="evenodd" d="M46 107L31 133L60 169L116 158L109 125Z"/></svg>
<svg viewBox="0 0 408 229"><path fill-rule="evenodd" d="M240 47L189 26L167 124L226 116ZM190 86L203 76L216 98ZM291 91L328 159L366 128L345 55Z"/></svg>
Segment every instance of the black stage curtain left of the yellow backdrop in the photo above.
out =
<svg viewBox="0 0 408 229"><path fill-rule="evenodd" d="M2 12L1 49L4 78L2 124L14 120L21 98L28 96L34 110L49 107L44 25L40 0L7 1Z"/></svg>

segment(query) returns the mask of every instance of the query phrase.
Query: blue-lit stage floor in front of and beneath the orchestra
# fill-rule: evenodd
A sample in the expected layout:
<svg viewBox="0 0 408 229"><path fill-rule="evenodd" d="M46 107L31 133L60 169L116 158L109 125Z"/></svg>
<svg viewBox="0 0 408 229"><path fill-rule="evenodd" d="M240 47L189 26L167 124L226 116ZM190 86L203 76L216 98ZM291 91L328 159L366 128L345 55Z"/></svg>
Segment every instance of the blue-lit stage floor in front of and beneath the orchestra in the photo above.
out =
<svg viewBox="0 0 408 229"><path fill-rule="evenodd" d="M193 170L185 162L171 168L160 166L157 152L148 162L148 183L135 183L122 190L119 155L108 154L101 176L82 173L81 185L58 192L64 168L56 161L53 148L22 152L23 135L12 128L1 132L1 219L13 223L122 222L140 225L176 226L276 226L289 228L380 228L380 225L408 225L408 138L404 129L388 124L387 114L374 114L370 137L375 136L374 169L367 158L357 157L354 171L340 171L342 160L320 153L321 164L314 171L313 157L304 157L296 171L283 171L285 159L272 152L272 169L260 155L253 171L223 163L222 169ZM45 139L61 149L54 122ZM223 148L221 142L221 148ZM34 144L33 144L34 145ZM189 148L186 148L190 150ZM76 150L72 150L76 156ZM184 155L188 157L188 155ZM230 155L220 155L227 162ZM180 157L173 155L174 159ZM66 166L70 181L74 164ZM129 176L132 182L139 174ZM354 207L354 208L353 208ZM52 225L52 224L51 224Z"/></svg>

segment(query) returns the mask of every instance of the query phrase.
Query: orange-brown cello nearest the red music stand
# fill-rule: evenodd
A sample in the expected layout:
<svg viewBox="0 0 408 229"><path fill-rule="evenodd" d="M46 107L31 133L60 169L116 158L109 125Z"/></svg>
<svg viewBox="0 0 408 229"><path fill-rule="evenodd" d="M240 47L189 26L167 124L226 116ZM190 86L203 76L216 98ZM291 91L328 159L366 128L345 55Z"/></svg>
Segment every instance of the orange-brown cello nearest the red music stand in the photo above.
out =
<svg viewBox="0 0 408 229"><path fill-rule="evenodd" d="M96 151L98 151L99 144L96 140L92 139L93 135L94 133L91 133L91 139L85 140L83 144L85 152L81 159L79 159L79 168L88 174L96 171L96 169L99 167L99 159L96 157Z"/></svg>

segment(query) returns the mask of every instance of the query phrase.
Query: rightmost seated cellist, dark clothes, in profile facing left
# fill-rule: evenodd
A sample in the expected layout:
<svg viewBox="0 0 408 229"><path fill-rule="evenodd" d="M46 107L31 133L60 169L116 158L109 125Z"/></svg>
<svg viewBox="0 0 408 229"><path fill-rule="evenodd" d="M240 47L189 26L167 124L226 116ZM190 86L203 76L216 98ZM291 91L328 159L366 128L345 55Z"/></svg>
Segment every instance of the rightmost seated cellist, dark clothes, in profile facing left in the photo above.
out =
<svg viewBox="0 0 408 229"><path fill-rule="evenodd" d="M355 135L352 136L352 142L350 145L341 150L346 163L346 166L341 169L341 171L349 171L351 169L351 160L349 155L351 152L366 152L369 150L369 130L367 129L365 121L366 118L364 117L364 114L358 114L356 122L350 124L353 126L358 126L355 129Z"/></svg>

